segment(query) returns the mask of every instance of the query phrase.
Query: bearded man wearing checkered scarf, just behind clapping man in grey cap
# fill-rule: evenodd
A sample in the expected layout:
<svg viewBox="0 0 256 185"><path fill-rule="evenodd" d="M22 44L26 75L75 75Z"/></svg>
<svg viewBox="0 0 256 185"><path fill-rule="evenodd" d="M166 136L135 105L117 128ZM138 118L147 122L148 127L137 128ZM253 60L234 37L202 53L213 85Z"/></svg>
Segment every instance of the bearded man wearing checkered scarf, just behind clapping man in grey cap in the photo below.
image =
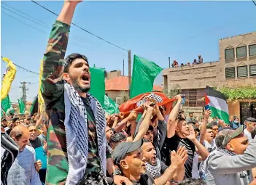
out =
<svg viewBox="0 0 256 185"><path fill-rule="evenodd" d="M141 147L141 150L146 163L147 171L152 175L154 179L160 177L163 173L165 173L168 166L157 158L155 147L152 145L150 141L144 139L144 143ZM183 150L185 151L185 153L187 153L185 147L179 147L178 149L178 151ZM177 173L174 174L174 181L182 181L182 179L184 178L184 174L184 165L180 165L179 168L177 169Z"/></svg>

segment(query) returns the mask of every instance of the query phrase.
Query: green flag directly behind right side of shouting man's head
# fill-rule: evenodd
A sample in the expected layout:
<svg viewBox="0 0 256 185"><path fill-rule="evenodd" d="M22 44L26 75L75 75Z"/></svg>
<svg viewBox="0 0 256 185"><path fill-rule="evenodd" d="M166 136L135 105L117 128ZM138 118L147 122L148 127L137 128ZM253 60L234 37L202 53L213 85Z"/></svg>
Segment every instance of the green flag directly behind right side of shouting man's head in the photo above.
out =
<svg viewBox="0 0 256 185"><path fill-rule="evenodd" d="M90 94L104 106L105 77L103 68L90 67Z"/></svg>

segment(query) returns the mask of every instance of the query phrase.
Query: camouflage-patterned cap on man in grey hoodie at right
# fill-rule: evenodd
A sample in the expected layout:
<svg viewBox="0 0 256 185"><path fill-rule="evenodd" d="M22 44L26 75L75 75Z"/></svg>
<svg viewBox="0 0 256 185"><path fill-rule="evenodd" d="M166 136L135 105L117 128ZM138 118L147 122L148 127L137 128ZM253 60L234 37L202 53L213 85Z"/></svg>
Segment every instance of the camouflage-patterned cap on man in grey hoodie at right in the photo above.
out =
<svg viewBox="0 0 256 185"><path fill-rule="evenodd" d="M223 129L220 131L215 139L217 147L226 147L231 139L234 139L236 136L239 136L244 131L244 126L239 126L236 130Z"/></svg>

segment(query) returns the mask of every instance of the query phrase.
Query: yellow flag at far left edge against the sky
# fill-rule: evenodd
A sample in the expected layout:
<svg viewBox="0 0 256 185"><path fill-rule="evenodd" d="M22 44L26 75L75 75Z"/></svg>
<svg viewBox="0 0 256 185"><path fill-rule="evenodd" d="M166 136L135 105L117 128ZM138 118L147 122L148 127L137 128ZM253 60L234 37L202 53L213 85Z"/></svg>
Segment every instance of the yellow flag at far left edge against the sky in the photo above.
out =
<svg viewBox="0 0 256 185"><path fill-rule="evenodd" d="M12 81L15 78L16 67L10 59L2 58L4 62L7 62L7 71L1 83L1 100L5 99L11 89Z"/></svg>

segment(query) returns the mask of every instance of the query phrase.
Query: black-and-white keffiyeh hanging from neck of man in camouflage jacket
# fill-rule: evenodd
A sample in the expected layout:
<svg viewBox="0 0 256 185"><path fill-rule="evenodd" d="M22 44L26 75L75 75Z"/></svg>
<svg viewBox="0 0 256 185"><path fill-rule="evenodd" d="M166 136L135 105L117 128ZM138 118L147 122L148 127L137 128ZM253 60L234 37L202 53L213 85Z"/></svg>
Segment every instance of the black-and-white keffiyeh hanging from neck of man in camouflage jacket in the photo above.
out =
<svg viewBox="0 0 256 185"><path fill-rule="evenodd" d="M101 170L106 176L106 120L101 104L90 94L88 102L95 114L98 140L98 157ZM81 179L88 162L88 120L87 111L81 96L69 83L65 83L65 129L69 158L69 173L66 184L74 184L74 179Z"/></svg>

